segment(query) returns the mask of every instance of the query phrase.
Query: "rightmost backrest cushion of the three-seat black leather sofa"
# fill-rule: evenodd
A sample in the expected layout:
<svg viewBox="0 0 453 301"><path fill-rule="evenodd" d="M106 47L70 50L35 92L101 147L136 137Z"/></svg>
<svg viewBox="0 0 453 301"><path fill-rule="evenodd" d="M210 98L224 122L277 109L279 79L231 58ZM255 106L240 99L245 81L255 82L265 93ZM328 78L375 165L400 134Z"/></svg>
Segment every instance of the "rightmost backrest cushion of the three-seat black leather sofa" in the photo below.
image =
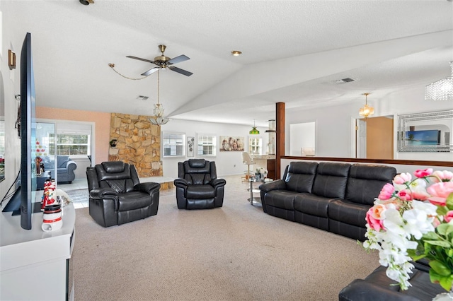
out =
<svg viewBox="0 0 453 301"><path fill-rule="evenodd" d="M395 176L395 167L354 164L349 171L345 199L372 206L382 187L391 183Z"/></svg>

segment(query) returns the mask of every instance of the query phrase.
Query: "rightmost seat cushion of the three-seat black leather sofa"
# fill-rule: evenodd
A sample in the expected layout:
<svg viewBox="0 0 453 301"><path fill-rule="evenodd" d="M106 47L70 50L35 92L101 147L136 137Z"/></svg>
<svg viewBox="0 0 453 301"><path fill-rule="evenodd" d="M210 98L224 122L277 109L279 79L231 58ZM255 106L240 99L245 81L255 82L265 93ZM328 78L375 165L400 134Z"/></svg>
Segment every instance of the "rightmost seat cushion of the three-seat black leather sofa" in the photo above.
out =
<svg viewBox="0 0 453 301"><path fill-rule="evenodd" d="M328 217L349 225L365 228L365 216L372 206L336 199L328 204Z"/></svg>

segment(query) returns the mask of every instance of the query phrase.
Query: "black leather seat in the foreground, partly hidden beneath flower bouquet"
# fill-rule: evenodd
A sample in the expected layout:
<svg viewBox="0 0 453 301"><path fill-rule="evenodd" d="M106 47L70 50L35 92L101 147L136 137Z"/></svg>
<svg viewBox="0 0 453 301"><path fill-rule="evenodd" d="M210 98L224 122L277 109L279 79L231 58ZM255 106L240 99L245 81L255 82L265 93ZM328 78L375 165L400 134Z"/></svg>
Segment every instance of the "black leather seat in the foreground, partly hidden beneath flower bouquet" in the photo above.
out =
<svg viewBox="0 0 453 301"><path fill-rule="evenodd" d="M367 278L355 279L338 294L340 301L420 301L432 300L445 292L437 283L431 283L428 261L413 262L415 266L408 290L401 290L398 283L386 276L386 267L379 266Z"/></svg>

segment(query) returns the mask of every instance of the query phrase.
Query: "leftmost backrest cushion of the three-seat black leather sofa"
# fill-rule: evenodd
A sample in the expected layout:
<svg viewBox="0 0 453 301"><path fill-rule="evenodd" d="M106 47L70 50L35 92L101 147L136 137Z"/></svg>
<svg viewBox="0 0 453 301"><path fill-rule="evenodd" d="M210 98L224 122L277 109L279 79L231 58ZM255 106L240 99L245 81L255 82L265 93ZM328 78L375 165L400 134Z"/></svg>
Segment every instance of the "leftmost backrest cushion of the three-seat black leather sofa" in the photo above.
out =
<svg viewBox="0 0 453 301"><path fill-rule="evenodd" d="M316 162L289 163L285 178L287 190L311 193L317 167Z"/></svg>

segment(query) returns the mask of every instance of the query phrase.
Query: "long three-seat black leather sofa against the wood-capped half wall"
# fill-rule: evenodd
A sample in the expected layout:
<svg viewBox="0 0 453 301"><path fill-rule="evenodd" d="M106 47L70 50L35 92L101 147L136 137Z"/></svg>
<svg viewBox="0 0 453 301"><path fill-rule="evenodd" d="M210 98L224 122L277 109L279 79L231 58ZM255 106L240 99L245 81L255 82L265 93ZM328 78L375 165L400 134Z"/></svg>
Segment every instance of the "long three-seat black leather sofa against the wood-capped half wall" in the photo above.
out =
<svg viewBox="0 0 453 301"><path fill-rule="evenodd" d="M394 167L292 162L282 179L260 185L263 211L356 240L365 240L365 216Z"/></svg>

